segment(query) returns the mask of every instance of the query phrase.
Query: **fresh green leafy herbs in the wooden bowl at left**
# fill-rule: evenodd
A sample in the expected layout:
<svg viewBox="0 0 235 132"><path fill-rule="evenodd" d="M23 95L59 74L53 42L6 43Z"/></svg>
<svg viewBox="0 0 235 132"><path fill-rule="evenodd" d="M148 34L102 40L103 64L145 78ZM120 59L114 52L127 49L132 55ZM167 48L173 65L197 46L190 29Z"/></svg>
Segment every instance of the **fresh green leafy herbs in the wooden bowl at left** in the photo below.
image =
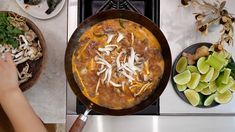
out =
<svg viewBox="0 0 235 132"><path fill-rule="evenodd" d="M13 48L18 47L17 37L23 34L23 31L9 23L7 13L0 13L0 45L11 45Z"/></svg>

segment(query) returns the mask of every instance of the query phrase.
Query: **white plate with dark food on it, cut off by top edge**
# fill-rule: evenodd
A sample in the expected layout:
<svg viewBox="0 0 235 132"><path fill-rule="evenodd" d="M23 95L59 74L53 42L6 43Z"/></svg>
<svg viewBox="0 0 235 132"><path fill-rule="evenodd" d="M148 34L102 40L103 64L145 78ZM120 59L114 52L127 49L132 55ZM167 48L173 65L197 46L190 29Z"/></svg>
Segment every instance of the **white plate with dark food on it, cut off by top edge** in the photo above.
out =
<svg viewBox="0 0 235 132"><path fill-rule="evenodd" d="M24 4L24 0L16 0L18 5L29 15L39 18L39 19L49 19L56 16L63 8L65 0L62 0L56 7L56 9L51 12L51 14L46 14L46 10L49 8L47 5L47 0L42 0L38 5L27 5Z"/></svg>

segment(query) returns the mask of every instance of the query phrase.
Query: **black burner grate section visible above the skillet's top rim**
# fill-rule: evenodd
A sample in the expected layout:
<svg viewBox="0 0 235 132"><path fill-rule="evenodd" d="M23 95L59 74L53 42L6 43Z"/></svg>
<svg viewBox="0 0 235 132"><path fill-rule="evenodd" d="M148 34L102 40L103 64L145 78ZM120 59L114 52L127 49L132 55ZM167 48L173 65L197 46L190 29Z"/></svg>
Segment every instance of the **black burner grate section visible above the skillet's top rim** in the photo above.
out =
<svg viewBox="0 0 235 132"><path fill-rule="evenodd" d="M160 0L78 0L78 23L100 11L125 9L138 12L159 26Z"/></svg>

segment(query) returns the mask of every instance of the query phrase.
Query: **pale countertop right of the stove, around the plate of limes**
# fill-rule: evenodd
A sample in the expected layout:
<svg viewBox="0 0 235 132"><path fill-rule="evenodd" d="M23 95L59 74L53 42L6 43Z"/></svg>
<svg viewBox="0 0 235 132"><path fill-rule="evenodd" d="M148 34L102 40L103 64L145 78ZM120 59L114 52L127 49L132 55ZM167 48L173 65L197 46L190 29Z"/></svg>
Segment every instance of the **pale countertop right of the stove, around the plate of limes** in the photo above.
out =
<svg viewBox="0 0 235 132"><path fill-rule="evenodd" d="M198 42L218 41L220 26L213 26L209 30L208 36L202 36L195 30L195 19L192 15L192 8L179 7L180 0L161 0L160 1L160 28L166 36L171 48L172 60L186 47ZM227 0L226 8L229 12L235 13L235 0ZM210 28L209 28L210 29ZM235 57L235 46L227 48ZM171 80L160 97L161 115L169 114L234 114L235 115L235 94L228 104L214 108L202 109L195 108L185 103L173 89Z"/></svg>

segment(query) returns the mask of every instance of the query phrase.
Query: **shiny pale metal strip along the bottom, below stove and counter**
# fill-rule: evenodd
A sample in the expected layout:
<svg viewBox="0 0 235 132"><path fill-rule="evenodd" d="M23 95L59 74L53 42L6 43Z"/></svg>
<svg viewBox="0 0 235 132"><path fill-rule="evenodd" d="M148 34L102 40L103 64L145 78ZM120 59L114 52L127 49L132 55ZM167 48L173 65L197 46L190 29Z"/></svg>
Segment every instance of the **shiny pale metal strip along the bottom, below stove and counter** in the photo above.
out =
<svg viewBox="0 0 235 132"><path fill-rule="evenodd" d="M66 131L77 116L68 115ZM128 122L127 122L128 121ZM235 117L89 116L83 132L234 132Z"/></svg>

